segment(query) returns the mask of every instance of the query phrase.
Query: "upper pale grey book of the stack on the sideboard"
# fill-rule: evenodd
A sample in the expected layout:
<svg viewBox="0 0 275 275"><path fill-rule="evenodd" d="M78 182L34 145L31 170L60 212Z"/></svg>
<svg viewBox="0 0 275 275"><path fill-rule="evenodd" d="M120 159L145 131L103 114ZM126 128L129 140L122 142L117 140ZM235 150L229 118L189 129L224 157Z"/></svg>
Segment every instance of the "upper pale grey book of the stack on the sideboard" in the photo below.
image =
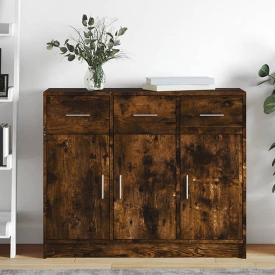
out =
<svg viewBox="0 0 275 275"><path fill-rule="evenodd" d="M146 84L151 85L209 85L214 84L215 79L207 76L181 76L181 77L145 77Z"/></svg>

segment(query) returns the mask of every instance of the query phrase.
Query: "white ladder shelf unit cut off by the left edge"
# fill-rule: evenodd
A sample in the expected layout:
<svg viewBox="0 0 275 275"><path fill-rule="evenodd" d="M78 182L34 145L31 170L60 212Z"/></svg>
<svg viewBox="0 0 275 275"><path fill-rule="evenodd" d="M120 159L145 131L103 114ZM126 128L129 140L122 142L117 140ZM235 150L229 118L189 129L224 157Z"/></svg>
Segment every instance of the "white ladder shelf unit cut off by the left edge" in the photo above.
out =
<svg viewBox="0 0 275 275"><path fill-rule="evenodd" d="M16 189L17 189L17 121L19 99L19 42L20 42L20 8L21 0L15 0L14 23L0 23L0 41L2 36L13 36L14 39L14 65L13 87L8 89L6 98L0 97L1 102L12 102L12 153L7 157L7 165L0 166L1 170L11 170L11 205L10 211L0 209L0 238L10 239L10 257L16 255ZM2 120L2 118L1 118ZM2 121L4 122L4 121Z"/></svg>

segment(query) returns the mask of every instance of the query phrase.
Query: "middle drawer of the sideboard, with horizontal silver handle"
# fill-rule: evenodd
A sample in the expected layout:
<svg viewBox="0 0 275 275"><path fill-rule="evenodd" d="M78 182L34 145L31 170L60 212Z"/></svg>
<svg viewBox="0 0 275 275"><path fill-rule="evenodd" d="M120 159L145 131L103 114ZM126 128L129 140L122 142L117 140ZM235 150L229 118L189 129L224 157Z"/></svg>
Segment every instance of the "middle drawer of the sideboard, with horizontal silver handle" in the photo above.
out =
<svg viewBox="0 0 275 275"><path fill-rule="evenodd" d="M175 133L174 96L114 96L114 133Z"/></svg>

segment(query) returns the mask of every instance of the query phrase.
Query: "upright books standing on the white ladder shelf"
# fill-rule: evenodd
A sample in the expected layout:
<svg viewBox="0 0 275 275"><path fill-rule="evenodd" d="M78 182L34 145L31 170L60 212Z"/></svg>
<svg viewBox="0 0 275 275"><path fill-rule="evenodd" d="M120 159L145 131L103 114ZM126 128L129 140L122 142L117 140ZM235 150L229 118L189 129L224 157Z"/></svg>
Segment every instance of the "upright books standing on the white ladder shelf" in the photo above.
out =
<svg viewBox="0 0 275 275"><path fill-rule="evenodd" d="M10 126L0 123L0 166L6 166L7 155L10 153Z"/></svg>

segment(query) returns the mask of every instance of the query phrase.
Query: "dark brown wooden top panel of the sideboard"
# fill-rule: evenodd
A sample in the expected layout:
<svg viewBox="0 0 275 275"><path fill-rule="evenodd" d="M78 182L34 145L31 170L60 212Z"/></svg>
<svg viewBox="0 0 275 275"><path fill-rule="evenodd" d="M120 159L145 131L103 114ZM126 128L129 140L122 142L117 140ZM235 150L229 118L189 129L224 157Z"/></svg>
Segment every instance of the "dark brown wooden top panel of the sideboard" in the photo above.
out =
<svg viewBox="0 0 275 275"><path fill-rule="evenodd" d="M85 88L48 88L47 95L244 95L240 88L216 88L214 90L150 91L142 88L105 88L99 91L88 91Z"/></svg>

